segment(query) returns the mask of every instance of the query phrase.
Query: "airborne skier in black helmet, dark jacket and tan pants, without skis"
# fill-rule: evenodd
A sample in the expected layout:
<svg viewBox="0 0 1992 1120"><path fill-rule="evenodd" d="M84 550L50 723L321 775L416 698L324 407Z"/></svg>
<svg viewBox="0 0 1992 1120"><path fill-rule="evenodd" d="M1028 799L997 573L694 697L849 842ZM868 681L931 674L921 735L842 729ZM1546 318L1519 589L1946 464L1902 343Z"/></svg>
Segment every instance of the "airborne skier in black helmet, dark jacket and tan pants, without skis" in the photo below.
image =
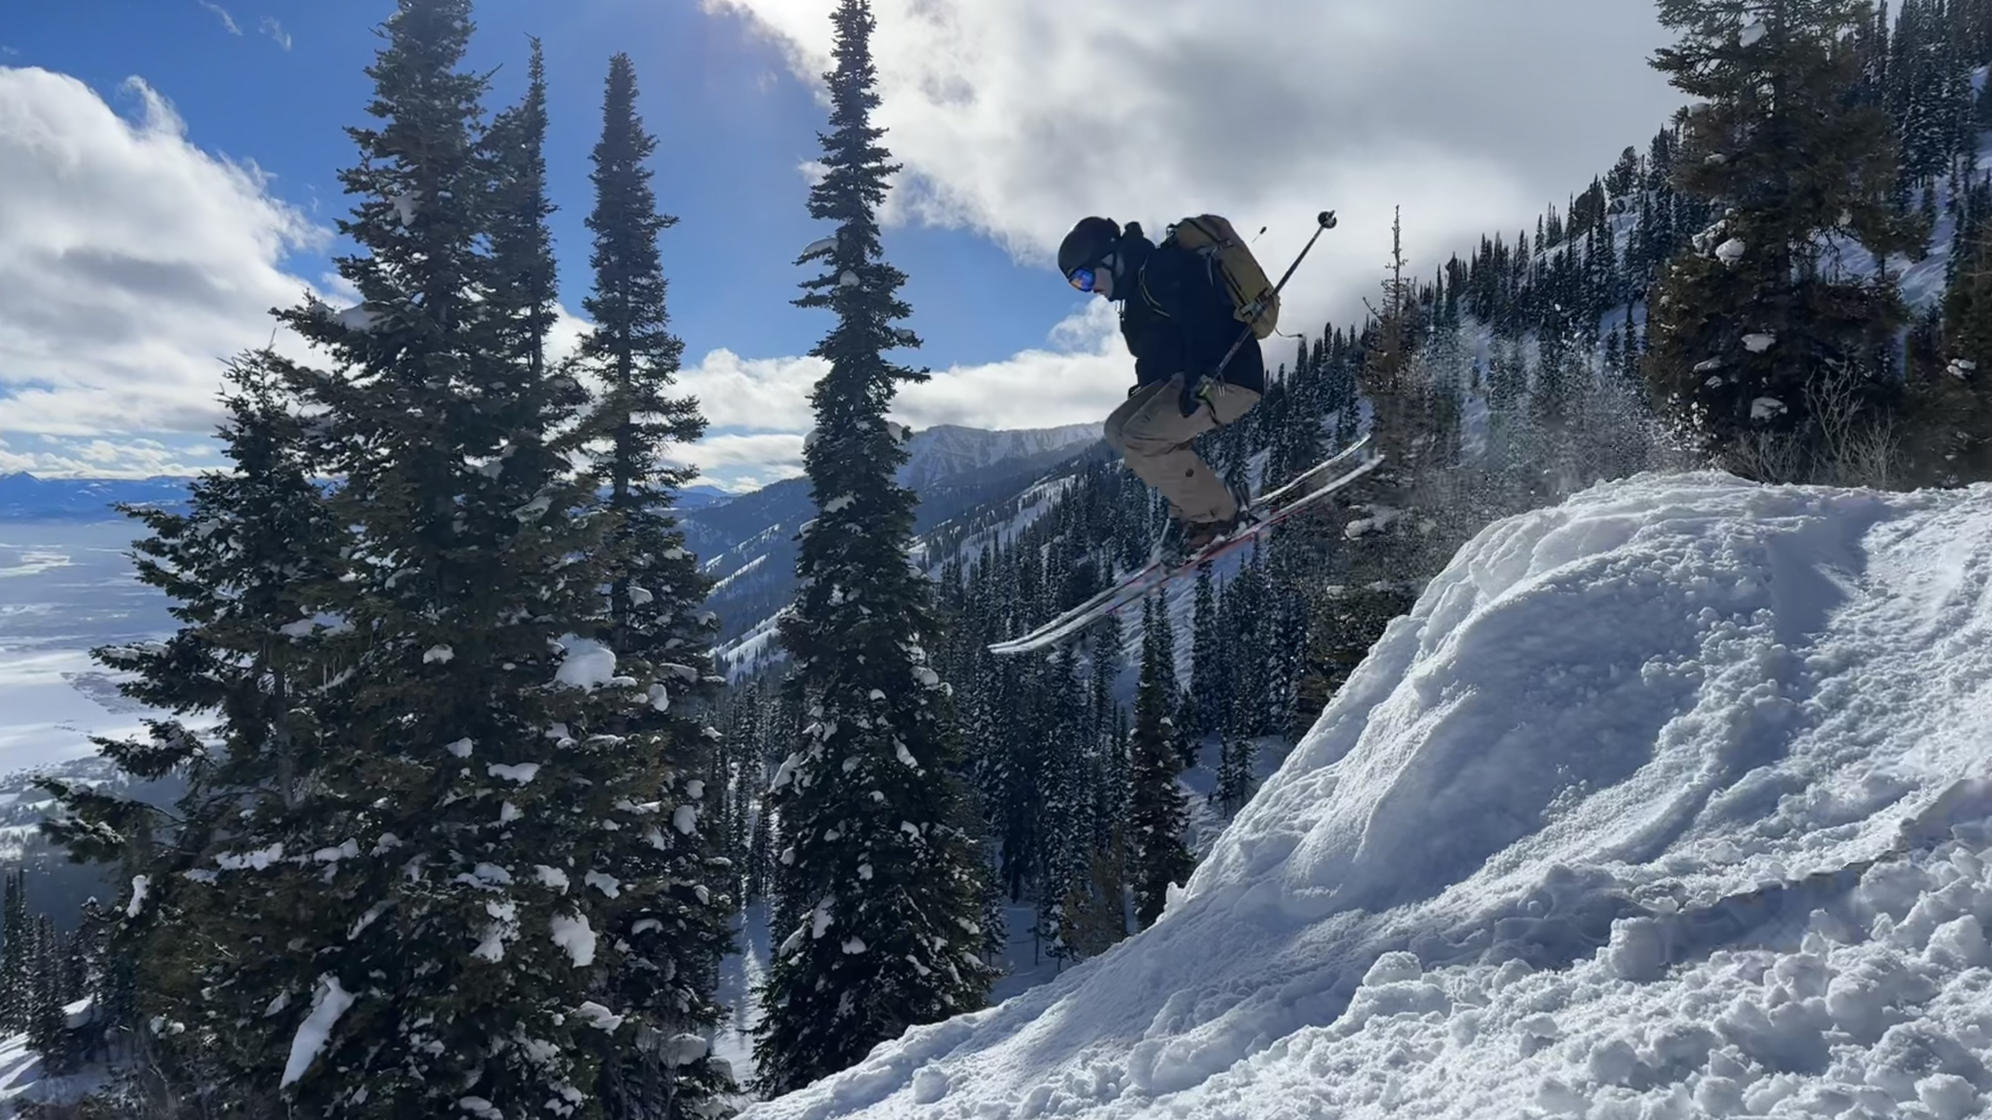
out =
<svg viewBox="0 0 1992 1120"><path fill-rule="evenodd" d="M1159 247L1129 221L1086 217L1058 247L1058 271L1086 293L1121 305L1121 337L1135 387L1106 422L1106 440L1137 478L1169 500L1161 556L1179 564L1233 532L1245 512L1195 452L1199 434L1235 424L1265 393L1259 339L1239 341L1235 303L1209 259L1175 239ZM1231 361L1217 363L1237 345Z"/></svg>

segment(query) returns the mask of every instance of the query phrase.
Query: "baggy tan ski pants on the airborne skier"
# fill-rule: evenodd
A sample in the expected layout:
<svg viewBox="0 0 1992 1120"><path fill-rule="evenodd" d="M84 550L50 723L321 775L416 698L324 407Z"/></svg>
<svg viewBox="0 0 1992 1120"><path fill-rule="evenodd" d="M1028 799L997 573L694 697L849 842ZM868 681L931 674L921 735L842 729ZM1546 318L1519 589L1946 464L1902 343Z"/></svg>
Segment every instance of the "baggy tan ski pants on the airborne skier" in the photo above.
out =
<svg viewBox="0 0 1992 1120"><path fill-rule="evenodd" d="M1177 520L1229 520L1237 514L1237 500L1225 488L1223 478L1197 456L1189 440L1217 424L1237 422L1259 403L1259 395L1251 389L1219 383L1209 393L1209 407L1197 409L1189 417L1177 405L1181 395L1181 375L1137 389L1108 417L1108 446L1127 460L1127 468L1137 478L1169 500L1169 510Z"/></svg>

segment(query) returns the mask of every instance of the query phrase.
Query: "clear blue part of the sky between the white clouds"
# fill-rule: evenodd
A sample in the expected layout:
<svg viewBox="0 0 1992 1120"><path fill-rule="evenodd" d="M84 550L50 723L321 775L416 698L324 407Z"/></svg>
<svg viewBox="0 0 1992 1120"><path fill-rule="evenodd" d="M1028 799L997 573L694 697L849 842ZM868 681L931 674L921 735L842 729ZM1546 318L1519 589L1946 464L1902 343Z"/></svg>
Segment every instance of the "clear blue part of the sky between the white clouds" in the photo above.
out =
<svg viewBox="0 0 1992 1120"><path fill-rule="evenodd" d="M60 70L112 98L125 78L141 76L185 118L193 143L253 159L275 177L275 195L317 221L331 225L347 211L337 171L353 163L353 143L343 128L367 120L365 68L392 4L12 2L26 8L0 24L0 42L18 52L6 64ZM687 351L781 357L817 341L821 317L785 301L805 275L795 251L821 235L805 211L799 165L819 151L823 108L773 44L739 14L689 2L484 0L476 24L470 66L498 68L494 106L522 90L528 36L546 46L554 235L570 307L590 283L588 151L602 128L608 60L622 50L637 68L645 124L661 140L659 207L679 217L661 245ZM966 231L900 227L886 251L910 277L912 327L926 339L918 361L928 365L1008 357L1040 343L1074 303L1056 275L1018 267ZM299 253L291 267L319 275L331 263Z"/></svg>

